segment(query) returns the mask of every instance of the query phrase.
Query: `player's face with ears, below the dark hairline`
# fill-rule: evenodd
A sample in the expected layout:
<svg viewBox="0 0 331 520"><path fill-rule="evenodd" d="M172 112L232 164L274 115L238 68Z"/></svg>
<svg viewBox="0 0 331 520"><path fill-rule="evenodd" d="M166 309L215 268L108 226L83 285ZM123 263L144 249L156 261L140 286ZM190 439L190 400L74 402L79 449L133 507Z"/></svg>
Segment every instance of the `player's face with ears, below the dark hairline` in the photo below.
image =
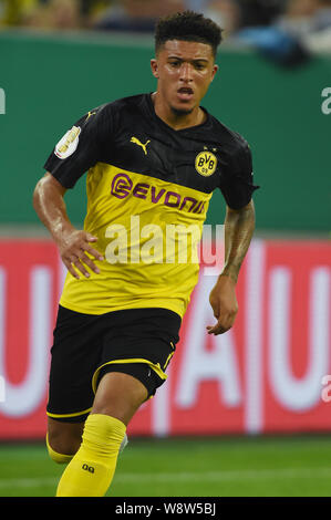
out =
<svg viewBox="0 0 331 520"><path fill-rule="evenodd" d="M199 106L218 69L210 45L180 40L168 40L151 65L163 103L177 114Z"/></svg>

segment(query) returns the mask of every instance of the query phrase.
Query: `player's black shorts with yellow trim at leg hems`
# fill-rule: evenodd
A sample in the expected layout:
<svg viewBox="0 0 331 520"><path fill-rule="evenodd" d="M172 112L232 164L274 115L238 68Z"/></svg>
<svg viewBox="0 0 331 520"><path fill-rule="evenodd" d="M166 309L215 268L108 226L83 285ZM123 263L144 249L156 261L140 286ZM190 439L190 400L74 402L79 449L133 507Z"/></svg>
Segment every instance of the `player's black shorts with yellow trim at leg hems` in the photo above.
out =
<svg viewBox="0 0 331 520"><path fill-rule="evenodd" d="M59 305L51 349L48 416L83 422L107 372L139 379L148 397L165 379L179 340L180 316L167 309L82 314Z"/></svg>

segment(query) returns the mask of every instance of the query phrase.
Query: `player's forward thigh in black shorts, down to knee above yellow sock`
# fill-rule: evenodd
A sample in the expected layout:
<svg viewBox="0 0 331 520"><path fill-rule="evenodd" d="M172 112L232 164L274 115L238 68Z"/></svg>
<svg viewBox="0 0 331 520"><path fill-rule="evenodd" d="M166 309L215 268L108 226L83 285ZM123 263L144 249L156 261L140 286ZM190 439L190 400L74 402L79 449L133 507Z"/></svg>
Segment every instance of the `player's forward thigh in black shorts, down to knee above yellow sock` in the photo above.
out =
<svg viewBox="0 0 331 520"><path fill-rule="evenodd" d="M103 337L102 363L93 376L92 413L113 415L127 424L165 382L180 318L165 309L132 309L113 313L112 325Z"/></svg>

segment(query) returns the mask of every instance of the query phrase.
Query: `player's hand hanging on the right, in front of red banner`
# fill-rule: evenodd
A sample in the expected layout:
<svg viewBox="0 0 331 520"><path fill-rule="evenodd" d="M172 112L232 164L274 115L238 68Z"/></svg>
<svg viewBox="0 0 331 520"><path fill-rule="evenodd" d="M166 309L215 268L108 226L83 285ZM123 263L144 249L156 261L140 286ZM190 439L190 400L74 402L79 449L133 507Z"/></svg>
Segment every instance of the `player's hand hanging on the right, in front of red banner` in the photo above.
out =
<svg viewBox="0 0 331 520"><path fill-rule="evenodd" d="M208 334L224 334L235 323L238 312L236 282L227 275L220 275L209 294L209 302L217 320L216 325L208 325Z"/></svg>

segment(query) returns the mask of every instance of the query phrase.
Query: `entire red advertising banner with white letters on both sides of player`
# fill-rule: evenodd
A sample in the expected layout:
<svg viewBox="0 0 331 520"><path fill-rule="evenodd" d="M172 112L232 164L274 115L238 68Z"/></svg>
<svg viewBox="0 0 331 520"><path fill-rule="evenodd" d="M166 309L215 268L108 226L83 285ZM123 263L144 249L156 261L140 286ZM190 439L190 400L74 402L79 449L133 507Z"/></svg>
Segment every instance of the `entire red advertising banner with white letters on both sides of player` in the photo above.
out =
<svg viewBox="0 0 331 520"><path fill-rule="evenodd" d="M52 241L0 241L0 438L45 435L63 274ZM218 336L206 331L216 278L201 263L168 378L130 435L331 430L331 245L254 240L235 326Z"/></svg>

